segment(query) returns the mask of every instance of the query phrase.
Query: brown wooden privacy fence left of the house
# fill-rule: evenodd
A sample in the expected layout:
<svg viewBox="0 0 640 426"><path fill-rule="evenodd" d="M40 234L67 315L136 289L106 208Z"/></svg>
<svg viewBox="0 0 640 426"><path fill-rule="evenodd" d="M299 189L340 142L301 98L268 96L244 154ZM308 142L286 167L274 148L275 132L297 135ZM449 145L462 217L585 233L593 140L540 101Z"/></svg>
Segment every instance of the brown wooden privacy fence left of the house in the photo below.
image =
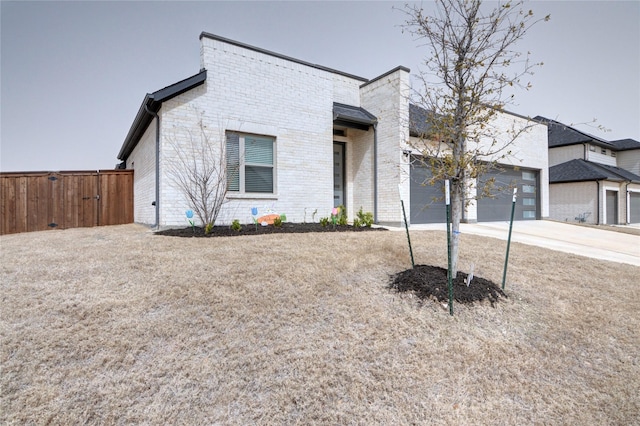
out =
<svg viewBox="0 0 640 426"><path fill-rule="evenodd" d="M133 222L133 170L0 173L0 235Z"/></svg>

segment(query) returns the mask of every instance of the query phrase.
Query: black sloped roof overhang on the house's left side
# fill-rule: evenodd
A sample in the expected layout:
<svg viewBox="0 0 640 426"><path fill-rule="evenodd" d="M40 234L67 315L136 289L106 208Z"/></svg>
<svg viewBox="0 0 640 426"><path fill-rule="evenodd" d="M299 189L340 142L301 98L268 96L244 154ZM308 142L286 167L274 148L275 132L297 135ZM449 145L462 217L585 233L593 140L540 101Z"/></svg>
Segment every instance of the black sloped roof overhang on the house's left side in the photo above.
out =
<svg viewBox="0 0 640 426"><path fill-rule="evenodd" d="M153 93L147 93L142 101L142 105L140 105L140 108L138 109L136 118L131 124L129 133L127 133L127 137L124 139L122 148L120 148L118 159L125 161L127 157L129 157L131 152L133 152L136 144L153 120L153 115L151 115L149 111L157 113L160 110L163 102L175 98L176 96L187 92L194 87L200 86L205 82L206 79L207 70L202 70L198 74L185 78L184 80L178 81L177 83L174 83L167 87L163 87L162 89L156 90Z"/></svg>

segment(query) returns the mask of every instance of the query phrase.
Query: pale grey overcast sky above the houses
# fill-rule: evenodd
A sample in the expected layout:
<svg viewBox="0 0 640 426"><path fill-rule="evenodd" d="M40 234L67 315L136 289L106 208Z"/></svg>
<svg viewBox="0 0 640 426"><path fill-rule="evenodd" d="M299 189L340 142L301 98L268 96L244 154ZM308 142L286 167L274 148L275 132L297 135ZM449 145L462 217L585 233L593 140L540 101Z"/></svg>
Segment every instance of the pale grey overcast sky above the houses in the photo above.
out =
<svg viewBox="0 0 640 426"><path fill-rule="evenodd" d="M196 74L202 31L365 78L416 73L403 2L0 3L0 170L110 169L146 93ZM425 8L432 8L429 1ZM640 140L640 2L533 1L544 66L509 109Z"/></svg>

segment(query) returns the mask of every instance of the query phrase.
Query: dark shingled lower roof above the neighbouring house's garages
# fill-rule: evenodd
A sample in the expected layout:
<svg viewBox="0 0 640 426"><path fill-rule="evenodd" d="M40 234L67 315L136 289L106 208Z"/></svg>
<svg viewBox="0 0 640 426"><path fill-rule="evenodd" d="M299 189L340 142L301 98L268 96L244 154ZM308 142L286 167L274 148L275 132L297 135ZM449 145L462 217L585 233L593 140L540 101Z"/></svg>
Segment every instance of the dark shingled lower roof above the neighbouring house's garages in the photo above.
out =
<svg viewBox="0 0 640 426"><path fill-rule="evenodd" d="M549 167L549 183L610 180L640 183L640 176L620 167L575 159Z"/></svg>

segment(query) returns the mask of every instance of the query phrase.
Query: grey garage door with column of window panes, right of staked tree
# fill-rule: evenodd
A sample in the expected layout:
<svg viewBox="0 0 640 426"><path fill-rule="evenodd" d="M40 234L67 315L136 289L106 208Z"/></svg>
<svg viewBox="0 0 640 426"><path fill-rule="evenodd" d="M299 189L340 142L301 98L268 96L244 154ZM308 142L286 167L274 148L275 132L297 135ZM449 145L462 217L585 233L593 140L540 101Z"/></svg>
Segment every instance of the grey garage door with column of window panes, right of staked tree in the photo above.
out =
<svg viewBox="0 0 640 426"><path fill-rule="evenodd" d="M494 178L491 198L478 200L478 222L508 221L511 218L513 188L517 186L518 197L514 220L535 220L540 217L540 197L537 170L524 170L501 166L501 170L486 173L481 179L483 185Z"/></svg>

